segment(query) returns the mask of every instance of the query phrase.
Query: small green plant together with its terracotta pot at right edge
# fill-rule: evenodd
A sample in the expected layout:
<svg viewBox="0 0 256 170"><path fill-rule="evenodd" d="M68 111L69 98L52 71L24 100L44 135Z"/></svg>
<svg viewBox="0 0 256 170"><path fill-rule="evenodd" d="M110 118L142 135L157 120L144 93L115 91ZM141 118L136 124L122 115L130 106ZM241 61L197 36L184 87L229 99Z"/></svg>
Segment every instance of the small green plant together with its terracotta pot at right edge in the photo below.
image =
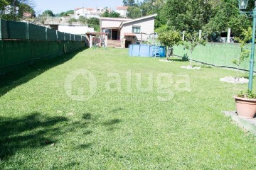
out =
<svg viewBox="0 0 256 170"><path fill-rule="evenodd" d="M252 91L240 92L235 98L235 106L241 118L254 118L256 113L256 95Z"/></svg>

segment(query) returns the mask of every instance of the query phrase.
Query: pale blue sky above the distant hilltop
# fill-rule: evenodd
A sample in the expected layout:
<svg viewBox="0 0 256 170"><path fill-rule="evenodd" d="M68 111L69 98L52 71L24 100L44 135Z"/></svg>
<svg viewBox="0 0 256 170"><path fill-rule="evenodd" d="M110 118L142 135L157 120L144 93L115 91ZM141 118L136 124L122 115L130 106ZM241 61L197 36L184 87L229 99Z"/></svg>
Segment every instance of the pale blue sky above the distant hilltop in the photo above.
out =
<svg viewBox="0 0 256 170"><path fill-rule="evenodd" d="M122 6L122 0L33 0L36 14L43 13L47 9L53 13L60 13L79 7L97 8Z"/></svg>

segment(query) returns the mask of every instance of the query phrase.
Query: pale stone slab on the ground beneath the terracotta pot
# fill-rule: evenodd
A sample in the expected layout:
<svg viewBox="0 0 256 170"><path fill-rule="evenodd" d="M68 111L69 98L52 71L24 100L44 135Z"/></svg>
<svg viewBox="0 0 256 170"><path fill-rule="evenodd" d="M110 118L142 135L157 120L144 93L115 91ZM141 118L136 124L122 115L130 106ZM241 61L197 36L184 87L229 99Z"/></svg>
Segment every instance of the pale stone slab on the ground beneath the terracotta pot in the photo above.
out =
<svg viewBox="0 0 256 170"><path fill-rule="evenodd" d="M226 116L231 117L240 127L245 128L245 130L252 132L256 136L256 118L245 119L240 118L235 111L222 111Z"/></svg>

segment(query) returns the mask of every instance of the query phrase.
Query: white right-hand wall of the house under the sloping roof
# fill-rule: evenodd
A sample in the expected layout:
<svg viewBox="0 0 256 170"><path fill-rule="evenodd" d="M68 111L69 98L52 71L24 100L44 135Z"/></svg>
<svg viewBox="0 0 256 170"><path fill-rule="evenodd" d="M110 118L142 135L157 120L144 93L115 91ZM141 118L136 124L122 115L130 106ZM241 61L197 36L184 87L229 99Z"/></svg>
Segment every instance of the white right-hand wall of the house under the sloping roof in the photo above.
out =
<svg viewBox="0 0 256 170"><path fill-rule="evenodd" d="M120 39L124 38L124 33L132 33L132 26L140 26L141 33L153 34L154 33L154 17L146 18L140 21L134 21L131 23L124 23L120 30ZM137 40L141 40L141 34L137 33ZM148 40L149 35L142 34L142 40Z"/></svg>

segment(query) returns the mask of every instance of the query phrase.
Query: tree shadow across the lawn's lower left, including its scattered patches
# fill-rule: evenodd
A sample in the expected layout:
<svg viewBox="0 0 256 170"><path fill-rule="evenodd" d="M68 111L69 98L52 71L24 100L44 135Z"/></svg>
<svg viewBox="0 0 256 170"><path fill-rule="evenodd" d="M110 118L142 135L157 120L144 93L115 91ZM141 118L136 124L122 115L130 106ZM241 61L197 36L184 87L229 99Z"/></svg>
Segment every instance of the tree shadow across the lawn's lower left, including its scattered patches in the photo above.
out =
<svg viewBox="0 0 256 170"><path fill-rule="evenodd" d="M120 122L120 119L110 119L102 123L91 113L83 114L79 120L64 116L47 116L46 113L30 113L18 118L0 117L0 160L9 159L21 149L58 145L61 140L69 141L68 139L75 137L78 132L82 132L85 137L92 135L90 126L103 125L105 130L112 131L117 129L115 125ZM73 145L72 140L70 145ZM75 149L87 149L92 145L92 142L87 142L79 144Z"/></svg>

